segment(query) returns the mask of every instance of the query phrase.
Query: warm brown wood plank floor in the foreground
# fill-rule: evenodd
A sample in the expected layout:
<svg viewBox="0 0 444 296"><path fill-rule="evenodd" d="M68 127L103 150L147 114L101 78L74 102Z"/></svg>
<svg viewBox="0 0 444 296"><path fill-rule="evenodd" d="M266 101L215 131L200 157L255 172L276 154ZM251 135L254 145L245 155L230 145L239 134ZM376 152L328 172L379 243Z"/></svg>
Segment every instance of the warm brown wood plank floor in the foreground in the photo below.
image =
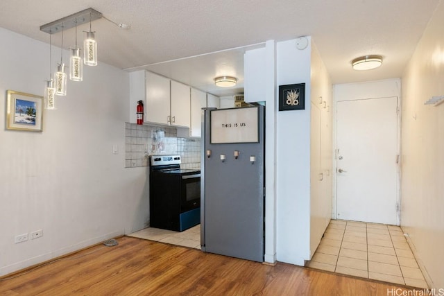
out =
<svg viewBox="0 0 444 296"><path fill-rule="evenodd" d="M409 290L278 263L275 266L123 236L13 279L0 295L387 295ZM395 295L391 293L389 295ZM405 294L407 295L407 293Z"/></svg>

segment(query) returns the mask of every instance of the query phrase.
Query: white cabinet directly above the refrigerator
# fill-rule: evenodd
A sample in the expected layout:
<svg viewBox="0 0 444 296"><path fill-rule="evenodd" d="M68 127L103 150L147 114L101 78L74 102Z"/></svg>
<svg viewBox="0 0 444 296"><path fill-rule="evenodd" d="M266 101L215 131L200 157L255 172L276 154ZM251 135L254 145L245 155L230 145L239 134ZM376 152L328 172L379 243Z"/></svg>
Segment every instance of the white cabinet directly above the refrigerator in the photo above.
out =
<svg viewBox="0 0 444 296"><path fill-rule="evenodd" d="M246 103L261 102L266 94L265 48L246 51L244 55L244 100Z"/></svg>

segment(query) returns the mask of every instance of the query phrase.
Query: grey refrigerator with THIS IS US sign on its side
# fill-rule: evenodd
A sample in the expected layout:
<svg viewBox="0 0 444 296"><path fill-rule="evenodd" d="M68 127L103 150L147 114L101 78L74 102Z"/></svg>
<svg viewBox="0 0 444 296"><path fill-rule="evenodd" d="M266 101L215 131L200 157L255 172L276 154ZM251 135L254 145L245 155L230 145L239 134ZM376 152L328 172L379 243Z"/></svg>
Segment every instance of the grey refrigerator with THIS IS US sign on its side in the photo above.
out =
<svg viewBox="0 0 444 296"><path fill-rule="evenodd" d="M203 109L201 250L264 261L264 106Z"/></svg>

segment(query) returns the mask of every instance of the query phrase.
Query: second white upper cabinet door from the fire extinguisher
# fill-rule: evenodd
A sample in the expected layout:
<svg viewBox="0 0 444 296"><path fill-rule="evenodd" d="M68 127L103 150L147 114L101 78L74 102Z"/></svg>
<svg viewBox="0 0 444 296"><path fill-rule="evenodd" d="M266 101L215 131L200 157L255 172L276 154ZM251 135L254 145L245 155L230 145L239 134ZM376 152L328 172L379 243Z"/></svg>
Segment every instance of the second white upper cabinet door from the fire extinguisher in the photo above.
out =
<svg viewBox="0 0 444 296"><path fill-rule="evenodd" d="M189 128L190 121L190 87L171 80L171 125Z"/></svg>

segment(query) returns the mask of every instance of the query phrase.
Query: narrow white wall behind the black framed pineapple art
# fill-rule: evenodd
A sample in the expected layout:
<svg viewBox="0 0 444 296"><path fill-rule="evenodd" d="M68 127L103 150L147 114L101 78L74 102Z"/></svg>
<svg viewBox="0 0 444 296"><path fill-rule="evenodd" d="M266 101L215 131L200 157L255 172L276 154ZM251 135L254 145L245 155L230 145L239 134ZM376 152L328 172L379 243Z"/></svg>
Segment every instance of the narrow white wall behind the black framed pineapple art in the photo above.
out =
<svg viewBox="0 0 444 296"><path fill-rule="evenodd" d="M277 88L305 82L305 110L276 116L276 254L278 261L304 265L310 234L310 53L296 40L276 45Z"/></svg>

